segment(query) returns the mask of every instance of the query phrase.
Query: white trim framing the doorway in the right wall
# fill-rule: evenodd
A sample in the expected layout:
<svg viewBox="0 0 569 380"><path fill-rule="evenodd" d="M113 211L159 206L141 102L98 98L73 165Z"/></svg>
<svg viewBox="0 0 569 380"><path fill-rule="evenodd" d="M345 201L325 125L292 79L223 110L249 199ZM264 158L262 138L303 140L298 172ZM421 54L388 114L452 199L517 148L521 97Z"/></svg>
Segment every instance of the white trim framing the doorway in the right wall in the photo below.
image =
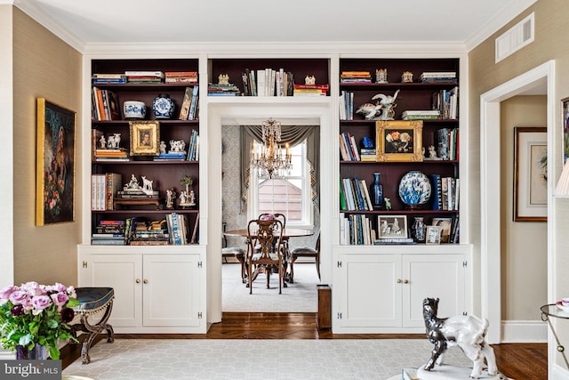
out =
<svg viewBox="0 0 569 380"><path fill-rule="evenodd" d="M555 61L547 61L535 69L515 77L508 82L494 87L480 95L480 285L481 311L490 322L487 339L490 344L501 342L501 170L500 165L500 133L495 129L500 127L500 103L535 88L542 83L547 84L547 127L548 127L548 163L549 174L560 171L558 155L555 154ZM555 183L548 176L548 198L551 197ZM553 284L555 284L553 262L555 252L554 239L554 207L553 201L548 202L548 299L553 299ZM546 300L544 300L546 303Z"/></svg>

